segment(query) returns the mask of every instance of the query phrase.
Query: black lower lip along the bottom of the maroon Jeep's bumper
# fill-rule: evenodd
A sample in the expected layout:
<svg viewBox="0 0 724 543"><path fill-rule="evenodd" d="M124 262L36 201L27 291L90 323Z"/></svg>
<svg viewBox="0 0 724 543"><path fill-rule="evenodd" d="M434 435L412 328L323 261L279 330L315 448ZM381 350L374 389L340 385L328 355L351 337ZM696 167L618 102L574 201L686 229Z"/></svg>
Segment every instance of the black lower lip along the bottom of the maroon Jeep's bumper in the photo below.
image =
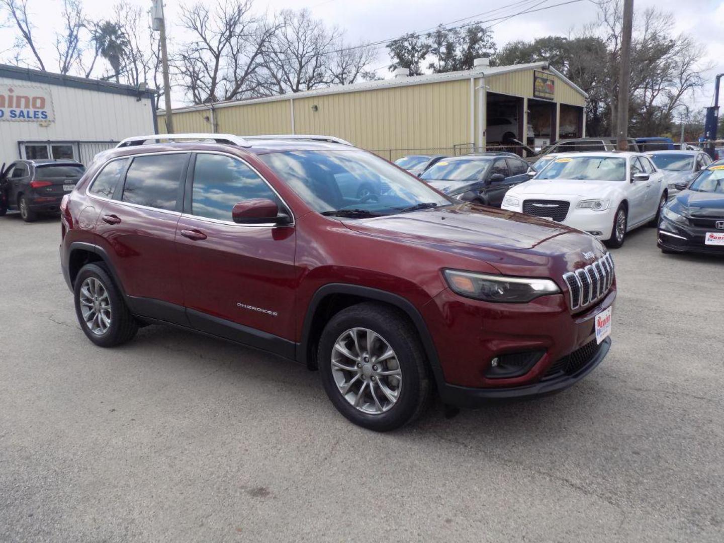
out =
<svg viewBox="0 0 724 543"><path fill-rule="evenodd" d="M442 401L449 405L476 408L496 400L525 400L531 397L555 394L573 387L574 384L591 373L603 361L610 348L611 339L607 337L598 346L594 356L571 374L560 374L550 379L541 379L537 383L523 387L479 389L445 384L440 390L440 396Z"/></svg>

